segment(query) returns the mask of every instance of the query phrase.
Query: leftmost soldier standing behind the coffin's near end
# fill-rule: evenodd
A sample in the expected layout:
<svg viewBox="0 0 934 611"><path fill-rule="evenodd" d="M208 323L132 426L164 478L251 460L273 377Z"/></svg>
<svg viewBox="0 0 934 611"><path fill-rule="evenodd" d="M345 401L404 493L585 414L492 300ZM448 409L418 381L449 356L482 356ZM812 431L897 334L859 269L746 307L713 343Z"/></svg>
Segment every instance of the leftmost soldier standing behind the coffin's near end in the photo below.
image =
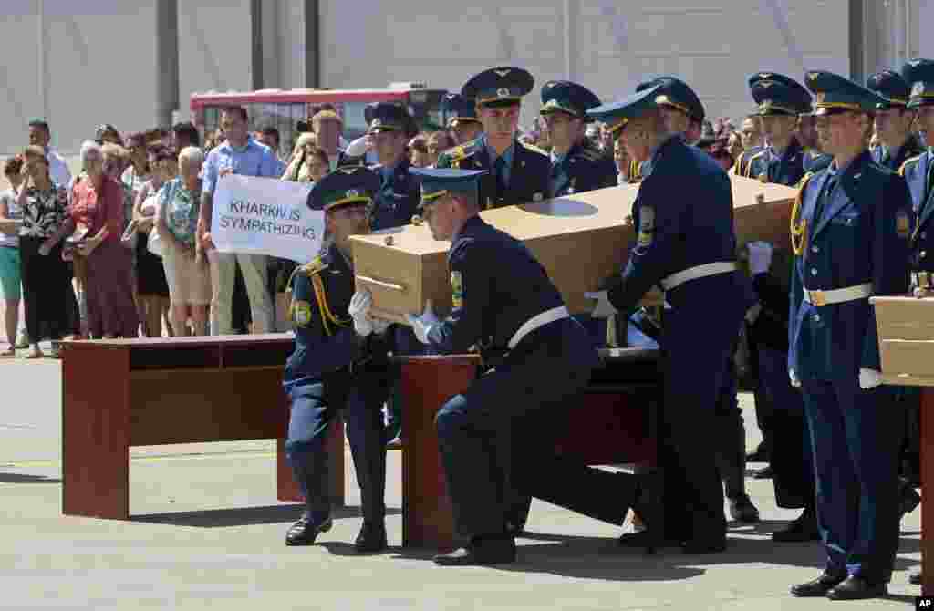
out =
<svg viewBox="0 0 934 611"><path fill-rule="evenodd" d="M414 121L408 111L391 102L379 102L373 108L373 121L367 134L379 163L379 193L371 215L373 230L401 227L412 221L418 206L418 181L409 174L406 145Z"/></svg>

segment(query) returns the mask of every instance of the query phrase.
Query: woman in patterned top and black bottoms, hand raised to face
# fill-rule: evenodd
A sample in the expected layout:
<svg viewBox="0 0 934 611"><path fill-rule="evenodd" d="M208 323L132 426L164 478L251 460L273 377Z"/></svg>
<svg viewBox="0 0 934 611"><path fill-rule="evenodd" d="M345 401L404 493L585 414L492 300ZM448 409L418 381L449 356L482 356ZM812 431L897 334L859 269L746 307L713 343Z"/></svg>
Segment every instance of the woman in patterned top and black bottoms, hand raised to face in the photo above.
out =
<svg viewBox="0 0 934 611"><path fill-rule="evenodd" d="M26 293L26 332L32 343L27 359L43 356L39 340L48 335L62 339L69 329L66 292L70 274L62 259L62 228L66 224L64 193L52 183L49 162L41 147L22 154L23 183L17 206L22 211L20 272ZM53 348L55 356L57 348Z"/></svg>

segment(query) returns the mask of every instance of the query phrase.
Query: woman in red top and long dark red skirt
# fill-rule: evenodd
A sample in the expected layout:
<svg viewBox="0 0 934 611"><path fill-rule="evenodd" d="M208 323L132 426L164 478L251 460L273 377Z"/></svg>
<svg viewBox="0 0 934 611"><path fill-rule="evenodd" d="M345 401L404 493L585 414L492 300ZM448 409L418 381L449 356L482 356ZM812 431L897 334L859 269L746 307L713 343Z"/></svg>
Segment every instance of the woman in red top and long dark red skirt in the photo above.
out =
<svg viewBox="0 0 934 611"><path fill-rule="evenodd" d="M133 303L132 260L120 244L123 188L104 173L104 151L81 145L86 178L72 189L67 229L74 232L76 260L86 268L88 332L93 337L135 337L139 326ZM121 168L122 171L122 168Z"/></svg>

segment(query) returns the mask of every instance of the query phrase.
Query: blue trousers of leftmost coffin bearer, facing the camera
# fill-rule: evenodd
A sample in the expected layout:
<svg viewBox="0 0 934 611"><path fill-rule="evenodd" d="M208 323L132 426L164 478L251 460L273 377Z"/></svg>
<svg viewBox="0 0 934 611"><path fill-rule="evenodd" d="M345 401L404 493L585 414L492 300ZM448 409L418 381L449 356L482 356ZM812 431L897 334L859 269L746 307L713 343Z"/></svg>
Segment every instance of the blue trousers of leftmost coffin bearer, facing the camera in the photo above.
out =
<svg viewBox="0 0 934 611"><path fill-rule="evenodd" d="M342 412L366 522L386 516L386 447L381 409L387 396L385 368L329 374L290 389L291 410L286 456L302 488L309 519L319 524L331 515L327 441L331 422Z"/></svg>

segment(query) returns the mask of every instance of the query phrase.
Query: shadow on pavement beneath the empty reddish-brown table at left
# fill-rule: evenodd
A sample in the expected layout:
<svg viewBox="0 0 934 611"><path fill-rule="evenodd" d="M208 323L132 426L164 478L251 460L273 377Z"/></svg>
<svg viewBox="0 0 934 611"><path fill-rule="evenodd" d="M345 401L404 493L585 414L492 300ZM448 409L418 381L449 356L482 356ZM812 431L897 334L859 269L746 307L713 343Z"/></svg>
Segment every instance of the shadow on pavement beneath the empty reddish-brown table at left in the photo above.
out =
<svg viewBox="0 0 934 611"><path fill-rule="evenodd" d="M130 521L149 524L173 524L198 528L225 528L230 526L252 526L293 522L302 517L301 504L274 504L262 507L239 507L233 509L206 509L202 511L180 511L163 514L131 516ZM400 509L387 508L386 514L401 514ZM333 511L334 519L361 518L360 507L342 507Z"/></svg>

